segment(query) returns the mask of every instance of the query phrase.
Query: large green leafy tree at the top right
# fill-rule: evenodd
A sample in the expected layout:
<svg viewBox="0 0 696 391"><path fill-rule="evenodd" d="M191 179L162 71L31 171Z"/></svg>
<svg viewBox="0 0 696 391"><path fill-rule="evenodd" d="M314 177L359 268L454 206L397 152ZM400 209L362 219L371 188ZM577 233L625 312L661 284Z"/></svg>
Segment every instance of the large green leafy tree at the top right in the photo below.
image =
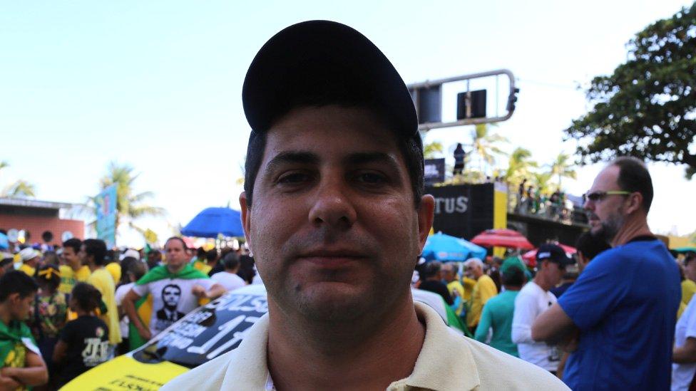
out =
<svg viewBox="0 0 696 391"><path fill-rule="evenodd" d="M565 130L580 162L618 155L686 165L696 173L696 3L656 21L628 42L628 60L594 78L593 105Z"/></svg>

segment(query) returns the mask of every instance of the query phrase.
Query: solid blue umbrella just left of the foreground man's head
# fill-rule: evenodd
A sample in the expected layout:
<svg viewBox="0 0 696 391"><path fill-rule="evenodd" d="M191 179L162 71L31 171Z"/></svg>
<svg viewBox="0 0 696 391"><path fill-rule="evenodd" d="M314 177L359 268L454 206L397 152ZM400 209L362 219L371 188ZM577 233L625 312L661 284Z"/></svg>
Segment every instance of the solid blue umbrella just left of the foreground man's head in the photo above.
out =
<svg viewBox="0 0 696 391"><path fill-rule="evenodd" d="M244 236L241 214L230 208L206 208L181 229L181 234L197 238Z"/></svg>

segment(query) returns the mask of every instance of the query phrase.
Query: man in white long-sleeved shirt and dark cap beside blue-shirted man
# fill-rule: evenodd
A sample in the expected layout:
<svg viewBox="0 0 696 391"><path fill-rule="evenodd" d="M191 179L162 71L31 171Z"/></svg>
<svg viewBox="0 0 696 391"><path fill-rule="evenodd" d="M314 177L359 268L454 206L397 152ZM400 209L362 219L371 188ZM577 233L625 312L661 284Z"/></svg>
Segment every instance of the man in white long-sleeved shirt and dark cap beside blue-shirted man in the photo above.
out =
<svg viewBox="0 0 696 391"><path fill-rule="evenodd" d="M512 341L517 344L522 360L555 373L561 360L558 348L533 340L531 330L534 320L556 303L556 296L549 290L561 282L565 266L573 261L556 244L539 246L536 260L541 266L539 271L515 298Z"/></svg>

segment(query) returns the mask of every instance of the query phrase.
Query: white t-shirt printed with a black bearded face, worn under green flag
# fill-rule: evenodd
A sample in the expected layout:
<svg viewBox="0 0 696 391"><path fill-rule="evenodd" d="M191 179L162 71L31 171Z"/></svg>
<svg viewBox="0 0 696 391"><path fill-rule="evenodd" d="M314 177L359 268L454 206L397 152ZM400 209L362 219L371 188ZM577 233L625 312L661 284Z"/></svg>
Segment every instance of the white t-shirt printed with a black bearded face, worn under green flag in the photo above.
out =
<svg viewBox="0 0 696 391"><path fill-rule="evenodd" d="M150 316L150 333L153 336L198 307L198 297L191 292L197 285L208 291L215 285L215 281L210 278L165 278L133 286L133 291L139 296L148 293L153 296L153 312Z"/></svg>

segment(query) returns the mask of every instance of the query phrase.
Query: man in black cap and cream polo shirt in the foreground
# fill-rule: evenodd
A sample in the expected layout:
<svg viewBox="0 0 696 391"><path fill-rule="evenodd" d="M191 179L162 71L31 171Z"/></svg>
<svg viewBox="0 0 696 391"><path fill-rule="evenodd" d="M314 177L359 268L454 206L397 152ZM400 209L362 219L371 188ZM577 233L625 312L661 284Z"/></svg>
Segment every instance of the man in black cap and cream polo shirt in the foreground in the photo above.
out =
<svg viewBox="0 0 696 391"><path fill-rule="evenodd" d="M242 224L268 316L165 390L565 389L414 304L434 199L414 105L372 42L329 21L290 26L255 57L242 100Z"/></svg>

